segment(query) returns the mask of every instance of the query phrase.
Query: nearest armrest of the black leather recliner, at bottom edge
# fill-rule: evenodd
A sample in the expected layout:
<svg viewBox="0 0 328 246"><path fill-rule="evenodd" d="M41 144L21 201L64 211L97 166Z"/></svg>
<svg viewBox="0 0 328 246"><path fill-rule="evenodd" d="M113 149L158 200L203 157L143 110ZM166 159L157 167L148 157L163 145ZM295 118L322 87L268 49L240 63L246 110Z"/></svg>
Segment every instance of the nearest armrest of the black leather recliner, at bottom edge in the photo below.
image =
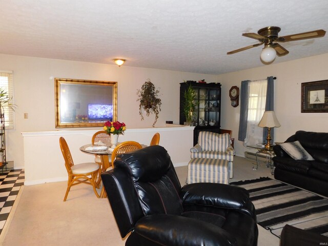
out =
<svg viewBox="0 0 328 246"><path fill-rule="evenodd" d="M178 215L155 214L145 216L136 223L126 245L154 244L233 246L237 245L237 240L227 231L208 222Z"/></svg>

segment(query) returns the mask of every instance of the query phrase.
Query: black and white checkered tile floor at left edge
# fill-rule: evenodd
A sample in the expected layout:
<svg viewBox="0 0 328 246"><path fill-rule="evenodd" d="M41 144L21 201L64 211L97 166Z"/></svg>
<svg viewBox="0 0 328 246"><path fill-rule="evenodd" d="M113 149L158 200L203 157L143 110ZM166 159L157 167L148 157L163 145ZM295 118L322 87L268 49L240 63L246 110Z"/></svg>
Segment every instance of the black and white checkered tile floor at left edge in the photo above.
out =
<svg viewBox="0 0 328 246"><path fill-rule="evenodd" d="M7 170L0 173L0 234L5 226L18 191L24 185L24 169Z"/></svg>

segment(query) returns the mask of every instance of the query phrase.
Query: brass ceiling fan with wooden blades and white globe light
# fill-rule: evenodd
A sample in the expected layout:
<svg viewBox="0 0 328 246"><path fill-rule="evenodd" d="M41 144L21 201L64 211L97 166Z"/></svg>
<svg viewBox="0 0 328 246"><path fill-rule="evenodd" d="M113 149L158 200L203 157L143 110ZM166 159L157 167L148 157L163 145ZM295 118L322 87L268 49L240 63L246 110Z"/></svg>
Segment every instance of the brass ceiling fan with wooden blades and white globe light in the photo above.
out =
<svg viewBox="0 0 328 246"><path fill-rule="evenodd" d="M311 32L278 36L280 30L280 27L264 27L258 30L257 33L243 33L243 36L257 39L260 43L230 51L227 55L235 54L237 52L248 50L264 44L264 48L262 49L262 53L260 55L261 60L264 61L264 63L271 63L276 58L276 55L283 56L289 53L288 50L276 42L291 42L308 38L323 37L326 33L324 30L320 29Z"/></svg>

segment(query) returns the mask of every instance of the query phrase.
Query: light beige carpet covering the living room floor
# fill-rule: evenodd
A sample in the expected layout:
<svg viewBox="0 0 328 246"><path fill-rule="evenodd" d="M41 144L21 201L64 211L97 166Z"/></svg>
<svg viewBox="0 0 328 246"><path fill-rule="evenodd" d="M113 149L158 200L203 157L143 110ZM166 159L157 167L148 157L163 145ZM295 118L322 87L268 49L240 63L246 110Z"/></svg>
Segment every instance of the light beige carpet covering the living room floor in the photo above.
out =
<svg viewBox="0 0 328 246"><path fill-rule="evenodd" d="M242 157L234 159L234 178L230 181L269 176L265 166L252 170L252 163ZM176 168L181 185L187 178L187 167ZM108 199L96 198L92 187L71 188L63 202L67 182L25 186L12 220L6 225L4 246L29 245L124 245ZM259 227L258 245L278 246L279 239Z"/></svg>

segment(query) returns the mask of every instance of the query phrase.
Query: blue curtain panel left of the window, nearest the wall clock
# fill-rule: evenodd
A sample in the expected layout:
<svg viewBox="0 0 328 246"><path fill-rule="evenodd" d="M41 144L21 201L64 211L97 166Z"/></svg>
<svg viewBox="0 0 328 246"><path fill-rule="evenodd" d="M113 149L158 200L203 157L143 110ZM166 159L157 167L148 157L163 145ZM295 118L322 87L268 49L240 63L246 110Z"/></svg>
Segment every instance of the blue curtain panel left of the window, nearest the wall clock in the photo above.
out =
<svg viewBox="0 0 328 246"><path fill-rule="evenodd" d="M240 88L240 117L239 117L239 130L238 140L244 141L247 132L247 117L248 117L248 84L250 80L241 81Z"/></svg>

